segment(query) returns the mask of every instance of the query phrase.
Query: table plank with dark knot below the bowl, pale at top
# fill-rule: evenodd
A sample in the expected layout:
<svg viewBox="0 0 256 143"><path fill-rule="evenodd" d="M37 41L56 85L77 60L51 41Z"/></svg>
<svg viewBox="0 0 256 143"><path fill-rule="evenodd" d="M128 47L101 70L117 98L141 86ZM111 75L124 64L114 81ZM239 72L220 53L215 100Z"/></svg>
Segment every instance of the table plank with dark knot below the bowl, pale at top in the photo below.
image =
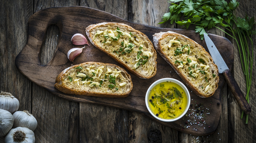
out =
<svg viewBox="0 0 256 143"><path fill-rule="evenodd" d="M131 22L146 24L156 27L174 28L174 24L158 24L163 13L168 11L166 1L128 1L128 20ZM159 57L159 55L158 55ZM168 65L167 65L168 66ZM178 131L160 123L150 120L139 113L129 113L129 142L178 142Z"/></svg>

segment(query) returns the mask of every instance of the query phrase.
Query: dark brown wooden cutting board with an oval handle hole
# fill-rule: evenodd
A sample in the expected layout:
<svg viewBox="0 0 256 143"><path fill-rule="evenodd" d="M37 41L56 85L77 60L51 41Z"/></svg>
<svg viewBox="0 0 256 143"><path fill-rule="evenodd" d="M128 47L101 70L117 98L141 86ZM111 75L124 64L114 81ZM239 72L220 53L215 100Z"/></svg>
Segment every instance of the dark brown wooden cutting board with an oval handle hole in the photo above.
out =
<svg viewBox="0 0 256 143"><path fill-rule="evenodd" d="M74 62L70 62L67 58L67 53L71 48L82 47L72 44L72 36L75 33L81 33L86 36L85 28L88 25L101 22L117 22L128 24L146 34L152 42L153 34L158 32L174 31L195 40L201 44L206 49L206 51L208 51L205 41L200 40L199 34L196 34L195 31L192 30L160 28L143 24L136 24L123 20L104 11L87 7L47 8L36 12L30 17L28 22L28 41L23 50L16 57L15 63L17 68L32 82L47 89L54 95L70 101L95 103L135 111L145 115L152 120L160 122L165 126L191 135L209 135L216 130L221 116L222 108L221 88L223 87L225 81L222 74L219 74L219 88L216 90L215 94L209 98L200 98L188 88L190 91L191 103L193 104L190 106L190 111L188 111L188 115L191 116L184 116L182 119L175 122L161 122L150 115L145 105L145 93L153 82L160 78L169 77L175 78L184 83L178 74L172 69L172 67L159 54L157 55L157 73L154 77L150 79L140 79L132 73L128 72L132 77L134 87L131 94L126 98L100 98L81 95L69 95L58 91L54 87L55 78L61 71L67 67L70 67L71 65L87 61L95 61L112 63L122 67L111 57L107 56L105 53L94 47L90 41L88 41L90 47L86 45L86 48L83 50L80 56L75 59ZM58 45L51 61L46 65L41 65L41 47L45 39L46 30L50 25L56 25L60 30ZM209 37L215 43L229 69L232 69L234 49L231 42L224 37L213 34L209 34ZM194 119L196 116L196 104L203 105L201 107L201 109L204 110L203 119ZM187 120L190 121L186 123ZM187 127L188 125L190 125L190 127Z"/></svg>

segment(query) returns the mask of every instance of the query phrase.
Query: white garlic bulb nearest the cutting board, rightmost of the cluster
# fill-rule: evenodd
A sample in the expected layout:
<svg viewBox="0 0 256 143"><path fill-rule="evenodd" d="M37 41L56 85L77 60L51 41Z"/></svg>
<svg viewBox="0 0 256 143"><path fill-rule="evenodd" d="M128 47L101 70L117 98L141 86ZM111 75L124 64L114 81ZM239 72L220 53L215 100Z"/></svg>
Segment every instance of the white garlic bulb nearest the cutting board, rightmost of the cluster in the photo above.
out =
<svg viewBox="0 0 256 143"><path fill-rule="evenodd" d="M13 115L13 118L14 118L12 128L26 127L26 128L29 128L30 130L34 131L35 128L37 127L36 119L27 110L16 111L12 115Z"/></svg>

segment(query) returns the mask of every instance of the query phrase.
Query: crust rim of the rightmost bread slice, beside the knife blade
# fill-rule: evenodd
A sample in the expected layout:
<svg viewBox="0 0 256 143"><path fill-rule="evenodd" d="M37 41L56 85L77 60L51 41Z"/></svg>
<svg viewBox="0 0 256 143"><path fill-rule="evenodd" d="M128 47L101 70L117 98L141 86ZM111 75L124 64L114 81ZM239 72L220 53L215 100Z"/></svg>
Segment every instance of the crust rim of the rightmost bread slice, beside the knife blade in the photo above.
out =
<svg viewBox="0 0 256 143"><path fill-rule="evenodd" d="M174 61L172 61L170 58L170 56L167 56L166 53L163 52L163 46L161 46L161 43L160 41L163 40L164 38L166 38L167 36L176 36L176 37L179 37L179 39L186 39L186 40L189 40L190 42L193 42L195 45L197 45L197 48L198 50L200 50L204 56L207 56L209 59L210 59L210 64L211 65L211 69L214 70L214 73L216 73L216 77L215 77L215 86L213 86L213 90L211 93L209 94L203 94L202 92L200 92L198 90L198 87L195 87L195 85L193 85L193 83L190 81L190 79L188 78L188 76L186 76L183 72L181 72L181 70L179 70L177 68L177 66L175 66L175 63ZM212 57L210 56L210 54L200 45L198 44L197 42L195 42L194 40L191 40L190 38L184 36L184 35L181 35L181 34L178 34L178 33L175 33L175 32L171 32L171 31L168 31L168 32L160 32L160 33L155 33L153 35L153 42L154 42L154 45L155 45L155 48L157 50L157 52L160 54L160 56L162 56L162 58L167 61L171 66L172 68L177 72L177 74L181 77L181 79L185 82L185 84L196 94L198 95L199 97L202 97L202 98L206 98L206 97L210 97L214 94L214 92L216 91L216 89L218 88L218 82L219 82L219 76L218 76L218 68L217 68L217 65L215 65L213 63L213 59ZM177 65L177 64L176 64ZM201 81L202 82L202 81Z"/></svg>

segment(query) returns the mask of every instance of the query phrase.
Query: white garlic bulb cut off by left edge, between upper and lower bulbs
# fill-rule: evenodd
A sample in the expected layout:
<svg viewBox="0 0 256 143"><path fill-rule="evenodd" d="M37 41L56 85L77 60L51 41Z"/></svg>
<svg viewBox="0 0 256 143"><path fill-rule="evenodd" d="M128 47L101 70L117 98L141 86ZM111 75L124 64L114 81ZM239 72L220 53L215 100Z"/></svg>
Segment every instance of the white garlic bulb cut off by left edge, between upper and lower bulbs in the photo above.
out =
<svg viewBox="0 0 256 143"><path fill-rule="evenodd" d="M9 111L0 109L0 137L5 136L13 125L13 116Z"/></svg>

